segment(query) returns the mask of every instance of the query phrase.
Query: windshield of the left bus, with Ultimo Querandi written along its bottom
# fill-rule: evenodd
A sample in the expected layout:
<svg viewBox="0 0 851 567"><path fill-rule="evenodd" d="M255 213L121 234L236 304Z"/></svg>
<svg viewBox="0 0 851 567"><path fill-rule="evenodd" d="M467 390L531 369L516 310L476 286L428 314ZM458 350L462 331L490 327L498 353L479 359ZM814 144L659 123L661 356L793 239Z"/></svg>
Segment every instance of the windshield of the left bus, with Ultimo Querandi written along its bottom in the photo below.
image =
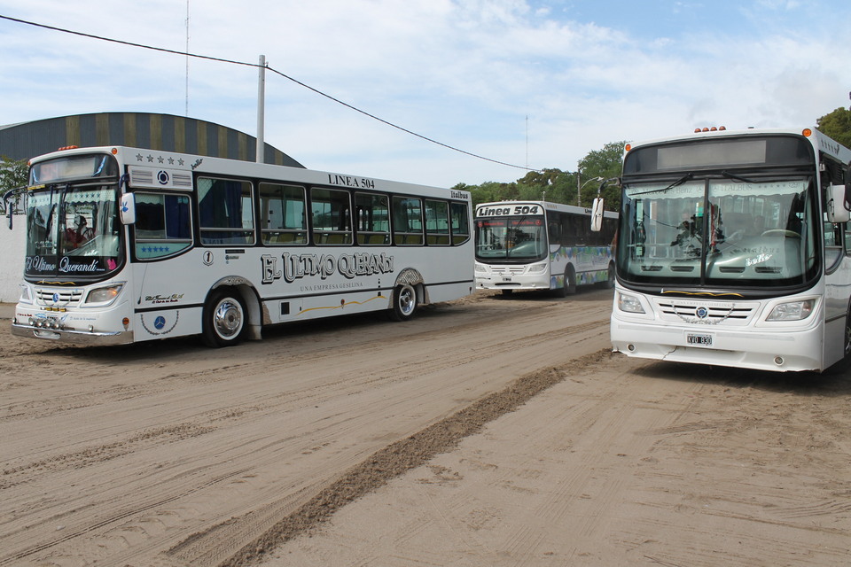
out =
<svg viewBox="0 0 851 567"><path fill-rule="evenodd" d="M57 159L33 168L30 181L49 184L27 195L25 276L97 279L120 267L117 175L112 183L50 183L72 174L105 176L112 161L109 156Z"/></svg>

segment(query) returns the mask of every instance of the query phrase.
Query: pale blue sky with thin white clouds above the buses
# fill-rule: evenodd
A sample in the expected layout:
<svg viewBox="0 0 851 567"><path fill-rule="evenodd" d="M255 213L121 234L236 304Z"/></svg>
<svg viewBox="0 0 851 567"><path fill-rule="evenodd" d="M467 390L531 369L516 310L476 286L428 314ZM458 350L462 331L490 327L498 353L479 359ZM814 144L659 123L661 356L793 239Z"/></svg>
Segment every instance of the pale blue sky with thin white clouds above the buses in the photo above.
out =
<svg viewBox="0 0 851 567"><path fill-rule="evenodd" d="M847 0L0 0L0 16L162 49L0 19L0 125L143 112L255 136L263 55L268 144L440 187L851 105Z"/></svg>

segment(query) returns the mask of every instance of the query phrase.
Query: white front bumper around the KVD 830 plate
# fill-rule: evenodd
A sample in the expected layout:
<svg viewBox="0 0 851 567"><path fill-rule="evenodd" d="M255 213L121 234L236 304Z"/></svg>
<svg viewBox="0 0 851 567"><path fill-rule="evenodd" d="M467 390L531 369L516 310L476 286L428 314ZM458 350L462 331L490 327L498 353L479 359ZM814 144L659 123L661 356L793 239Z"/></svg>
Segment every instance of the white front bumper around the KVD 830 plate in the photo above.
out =
<svg viewBox="0 0 851 567"><path fill-rule="evenodd" d="M636 358L781 372L824 369L822 330L817 326L795 332L695 330L627 322L613 314L610 333L613 352ZM690 336L693 341L701 333L712 336L711 347L689 344Z"/></svg>

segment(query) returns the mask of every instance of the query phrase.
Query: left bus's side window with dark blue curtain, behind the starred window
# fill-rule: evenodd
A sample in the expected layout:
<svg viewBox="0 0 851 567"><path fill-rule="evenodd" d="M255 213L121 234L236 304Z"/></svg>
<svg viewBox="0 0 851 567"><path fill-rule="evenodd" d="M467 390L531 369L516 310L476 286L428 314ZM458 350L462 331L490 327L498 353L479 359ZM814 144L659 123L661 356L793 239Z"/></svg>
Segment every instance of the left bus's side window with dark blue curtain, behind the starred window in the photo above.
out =
<svg viewBox="0 0 851 567"><path fill-rule="evenodd" d="M201 244L253 245L254 208L251 183L229 179L198 179Z"/></svg>

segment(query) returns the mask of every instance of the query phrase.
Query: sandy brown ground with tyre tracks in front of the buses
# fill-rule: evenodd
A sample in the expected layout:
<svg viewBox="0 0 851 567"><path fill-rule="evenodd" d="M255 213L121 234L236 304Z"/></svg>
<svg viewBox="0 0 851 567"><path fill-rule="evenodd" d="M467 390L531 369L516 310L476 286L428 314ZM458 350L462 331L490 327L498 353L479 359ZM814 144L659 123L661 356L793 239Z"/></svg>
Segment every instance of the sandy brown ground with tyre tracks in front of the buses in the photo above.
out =
<svg viewBox="0 0 851 567"><path fill-rule="evenodd" d="M607 352L611 291L209 350L0 328L0 565L847 565L851 379Z"/></svg>

